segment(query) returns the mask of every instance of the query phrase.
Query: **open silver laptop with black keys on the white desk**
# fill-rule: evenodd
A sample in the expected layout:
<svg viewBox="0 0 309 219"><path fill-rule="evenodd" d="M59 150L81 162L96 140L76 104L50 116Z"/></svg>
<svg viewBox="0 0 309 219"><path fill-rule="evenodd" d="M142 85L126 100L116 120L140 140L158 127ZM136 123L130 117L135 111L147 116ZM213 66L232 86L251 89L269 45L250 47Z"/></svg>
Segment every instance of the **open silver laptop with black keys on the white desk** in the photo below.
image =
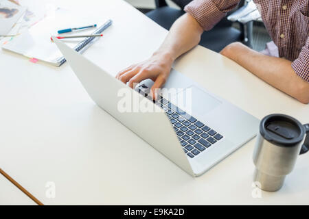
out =
<svg viewBox="0 0 309 219"><path fill-rule="evenodd" d="M193 177L201 176L258 133L258 118L211 94L174 69L163 90L176 90L174 96L185 96L185 91L190 90L187 92L190 109L184 104L177 105L174 101L177 98L166 92L152 101L150 79L141 81L133 90L64 42L53 39L102 110ZM132 110L133 103L144 103L147 107Z"/></svg>

